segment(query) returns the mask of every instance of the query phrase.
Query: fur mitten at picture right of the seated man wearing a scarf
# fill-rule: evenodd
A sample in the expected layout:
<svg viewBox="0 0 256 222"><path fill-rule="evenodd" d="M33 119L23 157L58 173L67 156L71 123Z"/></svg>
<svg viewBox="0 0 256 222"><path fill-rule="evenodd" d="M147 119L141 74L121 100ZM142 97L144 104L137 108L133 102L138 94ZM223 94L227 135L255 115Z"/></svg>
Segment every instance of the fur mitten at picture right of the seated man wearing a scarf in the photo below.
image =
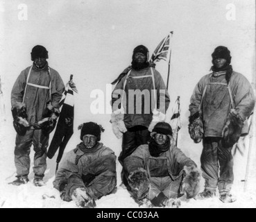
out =
<svg viewBox="0 0 256 222"><path fill-rule="evenodd" d="M185 177L182 180L180 193L186 198L194 198L200 190L200 173L195 166L184 167Z"/></svg>

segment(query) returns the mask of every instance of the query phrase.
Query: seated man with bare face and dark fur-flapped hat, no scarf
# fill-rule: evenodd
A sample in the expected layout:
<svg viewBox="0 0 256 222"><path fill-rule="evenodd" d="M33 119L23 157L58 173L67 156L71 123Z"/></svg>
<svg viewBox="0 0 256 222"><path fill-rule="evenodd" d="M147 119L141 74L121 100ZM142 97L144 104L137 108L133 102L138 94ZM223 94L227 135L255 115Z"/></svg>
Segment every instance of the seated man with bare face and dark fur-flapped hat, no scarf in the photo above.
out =
<svg viewBox="0 0 256 222"><path fill-rule="evenodd" d="M83 141L60 162L53 185L62 200L74 200L78 207L95 207L96 199L110 194L117 185L114 152L99 143L103 128L96 123L83 123Z"/></svg>

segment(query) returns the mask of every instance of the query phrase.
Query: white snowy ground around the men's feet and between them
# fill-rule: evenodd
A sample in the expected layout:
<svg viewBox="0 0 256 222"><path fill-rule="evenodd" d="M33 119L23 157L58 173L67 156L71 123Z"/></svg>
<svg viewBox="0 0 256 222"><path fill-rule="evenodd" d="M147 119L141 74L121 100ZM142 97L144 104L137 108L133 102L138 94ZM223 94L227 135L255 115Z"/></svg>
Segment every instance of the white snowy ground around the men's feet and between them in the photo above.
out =
<svg viewBox="0 0 256 222"><path fill-rule="evenodd" d="M121 141L114 138L111 132L111 126L106 125L106 133L109 135L103 136L103 143L107 146L112 147L115 151L116 155L119 155ZM185 127L186 128L186 127ZM184 130L186 131L187 128ZM182 132L182 130L181 130ZM78 135L78 131L75 130L75 135ZM112 139L106 139L111 137ZM182 137L182 133L180 133L179 137ZM185 137L185 140L189 139L188 134ZM181 140L181 139L180 139ZM186 143L184 139L182 139L182 143ZM114 141L114 142L113 142ZM67 150L69 151L72 147L76 146L78 140L71 139L69 145L67 146ZM187 141L189 144L190 141ZM111 146L114 145L114 146ZM8 185L8 182L15 180L15 165L14 165L14 146L15 146L15 130L12 128L12 119L11 117L6 117L5 119L1 117L1 125L0 125L0 207L3 208L75 208L76 205L74 202L63 202L59 193L56 189L53 188L53 180L56 169L56 158L53 157L52 160L47 160L48 169L45 173L45 182L46 186L44 187L35 187L33 185L33 148L31 151L31 174L29 175L29 179L27 185L22 185L20 187L15 187L12 185ZM187 155L189 155L193 160L199 164L199 156L200 156L200 148L201 145L195 145L193 150L184 149ZM185 146L188 147L188 146ZM190 146L191 147L191 146ZM190 154L189 154L190 153ZM194 153L192 155L191 153ZM246 169L246 160L247 155L244 154L244 157L236 156L235 157L235 181L234 187L232 189L233 193L237 196L237 202L230 204L223 204L218 198L213 198L212 200L189 200L187 203L182 203L181 207L185 208L242 208L242 207L256 207L256 180L255 180L255 148L253 148L252 158L250 160L250 173L248 179L248 187L247 191L244 192L244 182L241 182L245 176ZM200 165L200 164L199 164ZM118 173L118 182L120 185L120 172L121 165L117 162L117 173ZM203 190L203 179L201 180L201 189ZM105 196L101 198L101 200L96 201L96 207L99 208L138 208L138 205L135 203L133 198L130 198L130 194L123 187L118 186L115 194L111 194L109 196Z"/></svg>

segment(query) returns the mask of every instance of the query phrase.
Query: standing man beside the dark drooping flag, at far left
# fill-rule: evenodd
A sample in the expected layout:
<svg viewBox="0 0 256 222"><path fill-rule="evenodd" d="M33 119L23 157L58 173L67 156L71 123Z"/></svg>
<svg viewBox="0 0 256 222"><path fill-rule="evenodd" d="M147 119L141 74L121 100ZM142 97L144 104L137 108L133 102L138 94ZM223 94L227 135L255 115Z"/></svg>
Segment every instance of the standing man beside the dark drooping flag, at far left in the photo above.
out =
<svg viewBox="0 0 256 222"><path fill-rule="evenodd" d="M65 85L60 74L49 67L48 51L44 46L35 46L31 52L33 65L22 71L12 88L11 103L14 126L17 131L15 146L15 167L17 180L12 185L28 182L31 165L29 157L34 146L35 186L44 185L46 153L49 133L56 124L59 101Z"/></svg>

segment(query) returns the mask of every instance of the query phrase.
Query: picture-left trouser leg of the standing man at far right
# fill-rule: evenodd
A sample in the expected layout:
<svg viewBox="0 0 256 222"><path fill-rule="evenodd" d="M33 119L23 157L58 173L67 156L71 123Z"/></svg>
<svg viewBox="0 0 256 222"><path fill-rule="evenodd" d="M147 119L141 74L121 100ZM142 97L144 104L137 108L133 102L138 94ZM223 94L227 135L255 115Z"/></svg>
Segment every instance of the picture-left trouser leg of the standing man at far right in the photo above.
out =
<svg viewBox="0 0 256 222"><path fill-rule="evenodd" d="M203 139L203 153L200 157L203 178L205 179L205 188L216 189L219 180L218 163L219 139L216 137L207 137Z"/></svg>

